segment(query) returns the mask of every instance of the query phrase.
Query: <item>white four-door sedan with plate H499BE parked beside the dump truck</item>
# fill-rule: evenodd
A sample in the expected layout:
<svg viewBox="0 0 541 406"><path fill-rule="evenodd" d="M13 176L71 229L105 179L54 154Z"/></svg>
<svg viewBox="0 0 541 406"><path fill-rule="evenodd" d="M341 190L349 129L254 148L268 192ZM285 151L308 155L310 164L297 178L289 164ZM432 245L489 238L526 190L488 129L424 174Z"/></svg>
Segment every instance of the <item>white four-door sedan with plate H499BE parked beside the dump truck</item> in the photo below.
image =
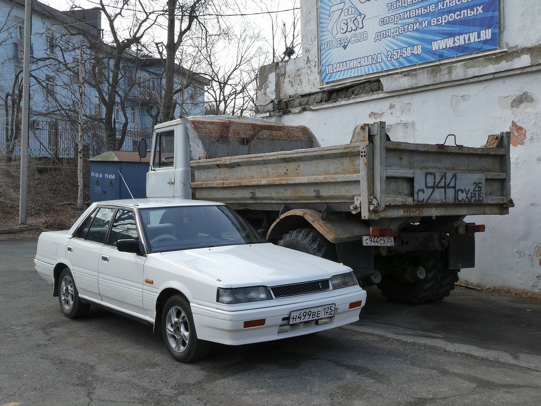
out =
<svg viewBox="0 0 541 406"><path fill-rule="evenodd" d="M261 237L214 202L92 204L68 231L42 233L35 268L70 318L90 305L159 327L181 362L210 343L300 336L359 319L366 292L351 269Z"/></svg>

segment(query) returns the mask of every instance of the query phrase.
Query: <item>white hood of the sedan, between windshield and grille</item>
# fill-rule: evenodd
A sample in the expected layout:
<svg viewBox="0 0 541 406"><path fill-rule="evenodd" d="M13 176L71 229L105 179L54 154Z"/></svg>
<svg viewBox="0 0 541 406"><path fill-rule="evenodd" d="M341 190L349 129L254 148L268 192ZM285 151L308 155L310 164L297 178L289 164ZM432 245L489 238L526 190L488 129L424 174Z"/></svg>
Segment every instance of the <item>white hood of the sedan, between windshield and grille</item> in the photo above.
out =
<svg viewBox="0 0 541 406"><path fill-rule="evenodd" d="M348 272L333 261L274 244L197 248L157 254L170 265L187 267L220 279L222 286L276 286L328 279Z"/></svg>

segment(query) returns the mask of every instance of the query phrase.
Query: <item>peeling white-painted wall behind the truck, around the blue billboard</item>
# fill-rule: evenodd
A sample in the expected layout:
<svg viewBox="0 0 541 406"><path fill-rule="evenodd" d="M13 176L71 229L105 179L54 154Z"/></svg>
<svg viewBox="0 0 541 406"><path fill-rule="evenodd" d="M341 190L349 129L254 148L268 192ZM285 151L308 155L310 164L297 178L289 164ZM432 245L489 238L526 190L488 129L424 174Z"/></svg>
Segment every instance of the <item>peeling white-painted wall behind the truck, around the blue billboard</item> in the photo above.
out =
<svg viewBox="0 0 541 406"><path fill-rule="evenodd" d="M301 1L303 55L261 69L261 116L306 125L322 145L349 141L355 125L386 121L392 140L481 146L511 130L510 214L475 217L477 266L464 281L541 292L541 2L504 0L501 51L458 62L320 87L316 1Z"/></svg>

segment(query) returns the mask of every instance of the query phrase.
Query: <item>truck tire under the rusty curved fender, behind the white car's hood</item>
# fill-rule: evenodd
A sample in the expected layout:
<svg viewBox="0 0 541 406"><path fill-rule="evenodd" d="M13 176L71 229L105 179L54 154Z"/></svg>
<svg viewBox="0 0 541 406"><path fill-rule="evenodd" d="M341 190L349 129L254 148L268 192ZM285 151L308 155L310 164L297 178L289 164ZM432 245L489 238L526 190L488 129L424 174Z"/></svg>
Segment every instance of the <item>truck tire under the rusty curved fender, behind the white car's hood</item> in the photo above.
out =
<svg viewBox="0 0 541 406"><path fill-rule="evenodd" d="M306 252L325 259L335 261L337 258L333 243L325 239L313 228L298 228L282 235L278 245L292 250Z"/></svg>

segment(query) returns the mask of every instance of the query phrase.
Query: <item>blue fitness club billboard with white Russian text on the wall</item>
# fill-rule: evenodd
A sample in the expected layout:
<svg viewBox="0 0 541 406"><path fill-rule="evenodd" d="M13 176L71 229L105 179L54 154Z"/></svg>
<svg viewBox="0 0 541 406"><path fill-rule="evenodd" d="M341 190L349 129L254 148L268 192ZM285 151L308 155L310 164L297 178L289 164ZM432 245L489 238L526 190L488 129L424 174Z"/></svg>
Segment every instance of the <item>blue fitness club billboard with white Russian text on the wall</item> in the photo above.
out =
<svg viewBox="0 0 541 406"><path fill-rule="evenodd" d="M499 0L319 0L321 82L498 48Z"/></svg>

